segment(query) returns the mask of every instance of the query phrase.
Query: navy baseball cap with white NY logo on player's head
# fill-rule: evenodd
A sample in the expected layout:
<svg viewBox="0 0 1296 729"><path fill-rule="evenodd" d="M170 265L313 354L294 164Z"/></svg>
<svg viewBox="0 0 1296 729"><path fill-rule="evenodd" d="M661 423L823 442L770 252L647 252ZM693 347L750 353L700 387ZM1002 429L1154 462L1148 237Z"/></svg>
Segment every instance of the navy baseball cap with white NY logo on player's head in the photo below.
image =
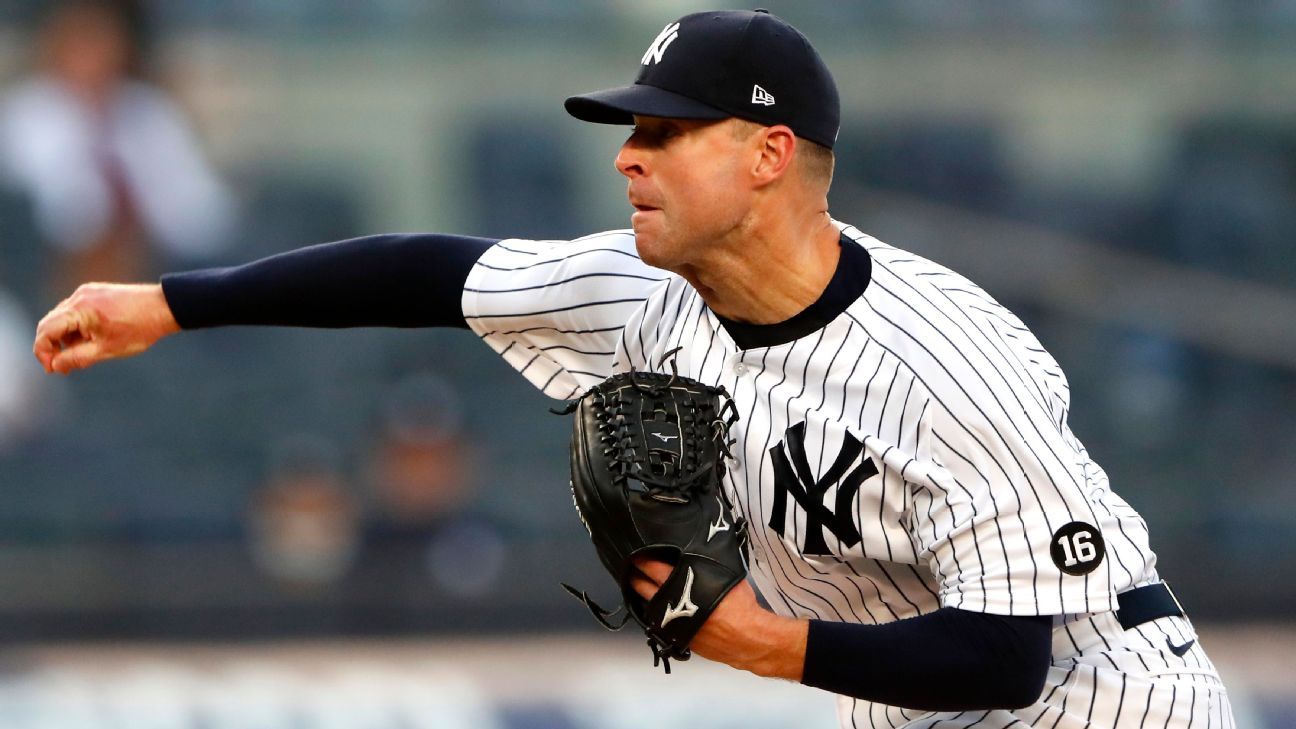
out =
<svg viewBox="0 0 1296 729"><path fill-rule="evenodd" d="M787 125L832 149L841 126L837 84L806 36L767 10L692 13L667 25L630 86L572 96L586 122L632 125L634 115L737 117Z"/></svg>

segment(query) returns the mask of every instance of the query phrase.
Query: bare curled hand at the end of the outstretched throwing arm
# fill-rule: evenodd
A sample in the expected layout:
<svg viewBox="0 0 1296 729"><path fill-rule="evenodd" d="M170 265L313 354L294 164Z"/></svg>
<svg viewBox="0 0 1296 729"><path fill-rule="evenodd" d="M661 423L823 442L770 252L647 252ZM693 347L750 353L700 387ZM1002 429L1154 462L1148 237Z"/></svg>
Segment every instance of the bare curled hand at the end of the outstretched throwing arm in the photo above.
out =
<svg viewBox="0 0 1296 729"><path fill-rule="evenodd" d="M83 284L36 324L31 350L45 372L66 375L178 331L159 284Z"/></svg>

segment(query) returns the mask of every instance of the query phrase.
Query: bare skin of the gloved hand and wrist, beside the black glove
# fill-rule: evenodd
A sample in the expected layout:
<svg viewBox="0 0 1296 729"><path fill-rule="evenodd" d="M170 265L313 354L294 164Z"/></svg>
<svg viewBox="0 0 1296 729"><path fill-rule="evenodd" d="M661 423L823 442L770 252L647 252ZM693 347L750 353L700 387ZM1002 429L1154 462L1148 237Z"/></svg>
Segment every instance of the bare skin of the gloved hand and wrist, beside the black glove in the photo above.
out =
<svg viewBox="0 0 1296 729"><path fill-rule="evenodd" d="M631 579L635 592L652 599L671 566L635 559L640 575ZM783 617L761 607L746 581L724 595L688 647L697 655L750 671L758 676L801 680L810 623Z"/></svg>

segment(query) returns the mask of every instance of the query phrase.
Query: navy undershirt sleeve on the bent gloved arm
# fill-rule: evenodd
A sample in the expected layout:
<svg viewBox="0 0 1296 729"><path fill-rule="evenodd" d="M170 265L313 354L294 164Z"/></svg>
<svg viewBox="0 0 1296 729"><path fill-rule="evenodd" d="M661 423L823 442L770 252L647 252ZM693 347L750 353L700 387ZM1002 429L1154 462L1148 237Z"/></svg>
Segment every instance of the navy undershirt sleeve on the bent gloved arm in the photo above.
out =
<svg viewBox="0 0 1296 729"><path fill-rule="evenodd" d="M1051 616L946 607L896 623L810 621L801 682L925 711L1020 708L1039 699Z"/></svg>

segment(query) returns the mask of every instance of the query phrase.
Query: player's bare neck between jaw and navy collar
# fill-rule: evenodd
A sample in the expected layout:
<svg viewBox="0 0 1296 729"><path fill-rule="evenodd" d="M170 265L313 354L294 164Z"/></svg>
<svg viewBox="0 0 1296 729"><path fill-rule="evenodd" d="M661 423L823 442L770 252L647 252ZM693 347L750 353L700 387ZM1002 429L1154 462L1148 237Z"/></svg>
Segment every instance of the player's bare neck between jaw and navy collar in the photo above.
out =
<svg viewBox="0 0 1296 729"><path fill-rule="evenodd" d="M814 304L841 256L827 206L793 219L757 219L739 240L679 271L717 314L750 324L785 322Z"/></svg>

